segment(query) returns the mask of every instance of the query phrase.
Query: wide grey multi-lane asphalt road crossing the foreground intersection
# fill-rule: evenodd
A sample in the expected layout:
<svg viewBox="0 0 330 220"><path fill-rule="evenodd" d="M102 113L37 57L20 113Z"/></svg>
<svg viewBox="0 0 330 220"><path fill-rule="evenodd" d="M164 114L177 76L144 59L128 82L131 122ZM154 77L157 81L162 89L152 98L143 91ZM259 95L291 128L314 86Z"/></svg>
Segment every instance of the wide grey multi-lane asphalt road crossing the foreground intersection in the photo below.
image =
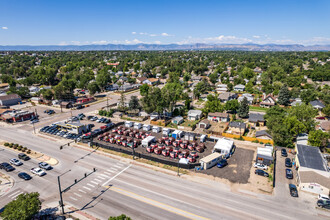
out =
<svg viewBox="0 0 330 220"><path fill-rule="evenodd" d="M22 144L60 161L46 176L34 176L31 181L18 179L16 173L18 170L29 172L37 164L36 160L9 173L15 185L1 198L0 206L21 192L33 191L40 193L45 204L58 204L57 176L71 170L61 177L64 188L95 167L95 173L64 194L64 201L100 219L122 213L133 219L322 219L318 216L319 210L299 198L233 193L220 183L206 180L197 183L132 165L124 159L119 161L74 147L60 151L59 143L35 136L32 131L1 128L0 139ZM0 160L8 161L14 156L16 153L5 149L0 153Z"/></svg>

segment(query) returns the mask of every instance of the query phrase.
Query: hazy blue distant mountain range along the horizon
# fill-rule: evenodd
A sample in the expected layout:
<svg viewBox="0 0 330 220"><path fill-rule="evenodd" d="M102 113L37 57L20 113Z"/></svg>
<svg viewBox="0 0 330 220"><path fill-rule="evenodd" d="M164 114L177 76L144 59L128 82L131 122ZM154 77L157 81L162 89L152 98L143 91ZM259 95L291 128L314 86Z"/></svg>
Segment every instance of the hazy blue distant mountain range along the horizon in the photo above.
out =
<svg viewBox="0 0 330 220"><path fill-rule="evenodd" d="M0 51L88 51L88 50L236 50L236 51L330 51L330 45L299 44L106 44L106 45L15 45Z"/></svg>

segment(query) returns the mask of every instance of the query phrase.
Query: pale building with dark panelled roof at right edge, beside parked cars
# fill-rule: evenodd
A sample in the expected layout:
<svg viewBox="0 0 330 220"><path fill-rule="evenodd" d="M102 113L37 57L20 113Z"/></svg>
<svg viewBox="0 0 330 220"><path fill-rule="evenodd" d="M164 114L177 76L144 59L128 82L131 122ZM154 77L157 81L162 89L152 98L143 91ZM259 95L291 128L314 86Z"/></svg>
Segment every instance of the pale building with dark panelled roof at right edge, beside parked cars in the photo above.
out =
<svg viewBox="0 0 330 220"><path fill-rule="evenodd" d="M295 167L300 190L329 195L330 172L318 147L297 144Z"/></svg>

